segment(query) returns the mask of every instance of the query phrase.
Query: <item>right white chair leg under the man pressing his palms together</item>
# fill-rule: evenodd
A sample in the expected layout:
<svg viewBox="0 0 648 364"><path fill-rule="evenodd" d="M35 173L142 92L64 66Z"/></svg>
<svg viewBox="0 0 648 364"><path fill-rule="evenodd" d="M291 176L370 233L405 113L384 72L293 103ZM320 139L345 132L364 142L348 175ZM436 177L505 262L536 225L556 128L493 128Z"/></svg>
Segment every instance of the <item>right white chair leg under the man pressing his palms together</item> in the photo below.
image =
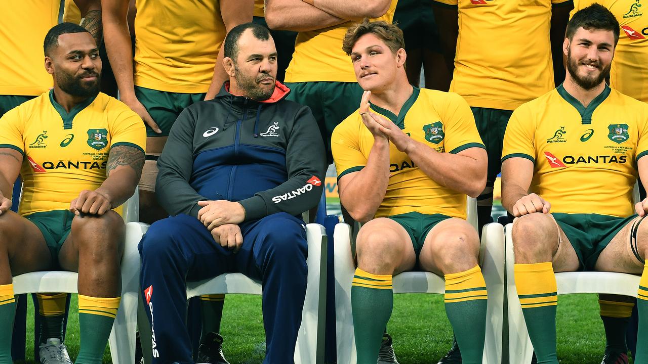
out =
<svg viewBox="0 0 648 364"><path fill-rule="evenodd" d="M481 273L488 289L483 362L502 363L505 266L504 228L501 224L489 223L483 227L480 263Z"/></svg>

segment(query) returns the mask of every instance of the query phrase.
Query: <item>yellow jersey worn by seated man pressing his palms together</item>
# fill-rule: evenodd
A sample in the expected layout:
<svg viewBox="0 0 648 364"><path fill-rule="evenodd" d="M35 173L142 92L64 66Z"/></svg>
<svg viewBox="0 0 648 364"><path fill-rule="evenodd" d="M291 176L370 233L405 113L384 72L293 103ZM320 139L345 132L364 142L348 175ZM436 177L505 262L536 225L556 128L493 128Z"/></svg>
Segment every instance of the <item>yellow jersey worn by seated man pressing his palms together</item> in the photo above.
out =
<svg viewBox="0 0 648 364"><path fill-rule="evenodd" d="M439 153L459 153L467 148L484 148L472 111L456 93L414 87L398 116L371 105L375 113L391 119L415 141ZM355 112L333 131L331 149L338 179L367 165L373 135ZM389 184L376 218L420 212L466 218L466 195L443 187L424 174L404 152L389 143Z"/></svg>

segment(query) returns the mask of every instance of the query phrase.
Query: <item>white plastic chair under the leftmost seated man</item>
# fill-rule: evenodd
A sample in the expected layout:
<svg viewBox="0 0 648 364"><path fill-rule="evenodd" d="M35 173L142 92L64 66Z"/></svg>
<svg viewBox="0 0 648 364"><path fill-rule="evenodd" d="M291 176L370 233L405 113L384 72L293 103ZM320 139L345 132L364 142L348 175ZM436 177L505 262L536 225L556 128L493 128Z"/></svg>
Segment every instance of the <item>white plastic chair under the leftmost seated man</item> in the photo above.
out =
<svg viewBox="0 0 648 364"><path fill-rule="evenodd" d="M124 203L124 219L137 219L137 190ZM128 221L128 220L127 220ZM126 223L126 243L121 260L122 299L117 310L108 343L113 363L134 363L135 324L137 323L137 293L139 292L139 251L145 224ZM14 294L78 293L78 273L70 271L37 271L17 275L13 279Z"/></svg>

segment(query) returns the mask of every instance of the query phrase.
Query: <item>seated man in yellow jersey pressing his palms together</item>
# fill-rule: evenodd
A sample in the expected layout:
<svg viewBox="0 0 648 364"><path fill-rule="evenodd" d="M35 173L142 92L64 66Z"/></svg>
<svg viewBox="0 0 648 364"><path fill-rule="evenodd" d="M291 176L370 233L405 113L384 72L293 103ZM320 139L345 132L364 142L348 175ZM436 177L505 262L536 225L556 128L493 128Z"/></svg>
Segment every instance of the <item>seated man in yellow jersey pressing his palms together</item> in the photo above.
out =
<svg viewBox="0 0 648 364"><path fill-rule="evenodd" d="M487 156L459 95L408 83L402 32L384 21L349 27L343 40L360 109L332 135L341 203L364 226L351 289L358 364L374 364L393 306L392 275L445 275L445 306L463 363L481 363L486 287L466 194L486 182Z"/></svg>

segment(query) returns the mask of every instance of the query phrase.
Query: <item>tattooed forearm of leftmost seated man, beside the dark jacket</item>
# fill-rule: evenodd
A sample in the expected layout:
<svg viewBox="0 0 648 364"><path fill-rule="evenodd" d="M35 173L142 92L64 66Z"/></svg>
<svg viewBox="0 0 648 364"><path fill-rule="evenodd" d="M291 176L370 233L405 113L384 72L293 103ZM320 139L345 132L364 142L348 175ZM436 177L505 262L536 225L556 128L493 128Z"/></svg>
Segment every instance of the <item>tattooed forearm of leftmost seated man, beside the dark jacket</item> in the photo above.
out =
<svg viewBox="0 0 648 364"><path fill-rule="evenodd" d="M106 196L110 208L126 202L135 192L135 186L142 176L144 153L132 146L118 145L110 149L106 163L106 180L97 192Z"/></svg>

